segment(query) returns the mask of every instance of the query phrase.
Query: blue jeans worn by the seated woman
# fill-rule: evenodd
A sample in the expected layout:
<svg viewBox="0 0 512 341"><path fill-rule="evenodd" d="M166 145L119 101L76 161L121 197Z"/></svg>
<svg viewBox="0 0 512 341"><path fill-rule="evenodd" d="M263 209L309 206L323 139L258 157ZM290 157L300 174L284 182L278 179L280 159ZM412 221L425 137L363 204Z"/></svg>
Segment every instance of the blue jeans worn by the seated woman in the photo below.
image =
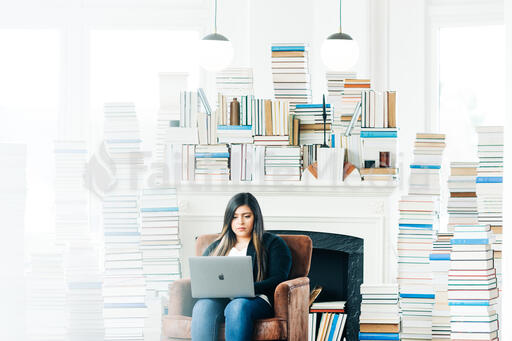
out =
<svg viewBox="0 0 512 341"><path fill-rule="evenodd" d="M274 309L260 297L202 298L192 310L192 341L216 341L223 320L226 341L252 340L254 321L273 315Z"/></svg>

